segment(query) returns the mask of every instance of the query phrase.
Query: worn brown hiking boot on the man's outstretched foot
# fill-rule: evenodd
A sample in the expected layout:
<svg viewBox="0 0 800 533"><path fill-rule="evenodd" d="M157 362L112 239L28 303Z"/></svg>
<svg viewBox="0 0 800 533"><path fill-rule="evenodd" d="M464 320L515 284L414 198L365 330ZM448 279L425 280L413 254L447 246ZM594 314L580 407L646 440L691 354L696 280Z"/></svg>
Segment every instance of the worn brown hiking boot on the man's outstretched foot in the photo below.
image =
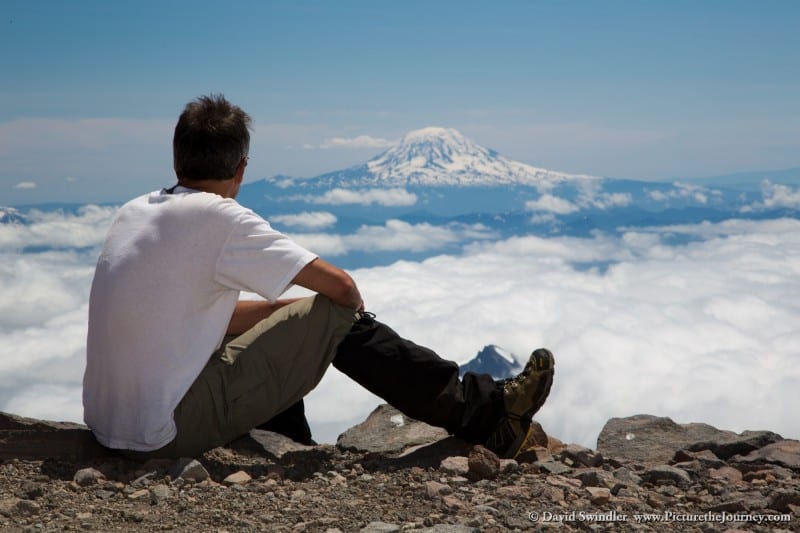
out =
<svg viewBox="0 0 800 533"><path fill-rule="evenodd" d="M506 459L516 458L532 439L531 420L544 405L553 384L555 361L550 350L535 350L516 377L500 381L505 413L486 447Z"/></svg>

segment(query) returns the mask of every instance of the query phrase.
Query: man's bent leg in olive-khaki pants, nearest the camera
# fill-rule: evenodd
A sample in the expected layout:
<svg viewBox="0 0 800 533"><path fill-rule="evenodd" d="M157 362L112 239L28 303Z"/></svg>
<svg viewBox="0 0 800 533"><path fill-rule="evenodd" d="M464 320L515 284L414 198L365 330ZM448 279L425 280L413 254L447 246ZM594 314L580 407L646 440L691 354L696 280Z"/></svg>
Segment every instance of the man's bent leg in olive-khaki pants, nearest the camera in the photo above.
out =
<svg viewBox="0 0 800 533"><path fill-rule="evenodd" d="M317 295L230 341L175 409L175 440L149 455L194 457L286 411L317 386L355 319Z"/></svg>

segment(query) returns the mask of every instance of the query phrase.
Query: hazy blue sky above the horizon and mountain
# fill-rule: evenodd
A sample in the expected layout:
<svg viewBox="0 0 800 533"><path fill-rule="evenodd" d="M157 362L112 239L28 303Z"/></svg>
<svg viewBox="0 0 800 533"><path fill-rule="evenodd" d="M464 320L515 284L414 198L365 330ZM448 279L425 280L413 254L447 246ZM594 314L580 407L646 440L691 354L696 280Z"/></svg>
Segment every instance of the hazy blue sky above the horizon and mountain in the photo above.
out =
<svg viewBox="0 0 800 533"><path fill-rule="evenodd" d="M0 204L173 181L222 92L248 179L312 176L430 126L536 166L669 179L800 166L796 2L50 2L0 6ZM377 144L380 144L378 142Z"/></svg>

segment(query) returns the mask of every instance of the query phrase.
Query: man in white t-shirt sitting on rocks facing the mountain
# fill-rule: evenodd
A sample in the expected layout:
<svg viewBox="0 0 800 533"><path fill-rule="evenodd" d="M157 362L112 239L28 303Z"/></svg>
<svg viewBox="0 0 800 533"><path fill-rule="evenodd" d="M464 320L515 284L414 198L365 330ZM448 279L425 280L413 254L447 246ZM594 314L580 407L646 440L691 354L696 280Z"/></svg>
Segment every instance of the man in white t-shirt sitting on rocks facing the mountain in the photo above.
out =
<svg viewBox="0 0 800 533"><path fill-rule="evenodd" d="M458 365L365 311L353 279L235 201L250 117L222 96L175 127L178 183L120 208L89 302L84 419L134 458L192 457L262 427L310 443L302 398L330 364L406 415L485 444L525 447L553 356L515 378ZM316 294L281 300L292 284ZM240 291L265 301L239 301Z"/></svg>

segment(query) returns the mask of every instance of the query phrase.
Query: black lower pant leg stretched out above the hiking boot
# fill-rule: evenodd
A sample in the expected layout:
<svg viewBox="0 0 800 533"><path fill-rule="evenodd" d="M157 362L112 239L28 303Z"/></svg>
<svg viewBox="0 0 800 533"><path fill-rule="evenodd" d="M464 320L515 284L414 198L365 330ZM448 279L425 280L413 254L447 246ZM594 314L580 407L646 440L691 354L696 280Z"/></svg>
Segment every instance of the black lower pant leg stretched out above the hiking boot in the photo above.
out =
<svg viewBox="0 0 800 533"><path fill-rule="evenodd" d="M401 338L369 316L339 344L333 366L417 420L484 442L503 414L500 387L488 374L458 377L458 365Z"/></svg>

